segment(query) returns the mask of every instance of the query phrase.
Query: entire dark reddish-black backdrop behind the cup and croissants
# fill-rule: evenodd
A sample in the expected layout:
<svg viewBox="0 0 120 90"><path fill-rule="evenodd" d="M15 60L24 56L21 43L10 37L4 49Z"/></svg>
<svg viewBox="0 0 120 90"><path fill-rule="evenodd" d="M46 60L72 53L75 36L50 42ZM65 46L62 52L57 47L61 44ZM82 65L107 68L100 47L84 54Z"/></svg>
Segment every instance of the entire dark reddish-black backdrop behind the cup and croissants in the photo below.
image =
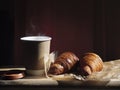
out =
<svg viewBox="0 0 120 90"><path fill-rule="evenodd" d="M52 37L51 52L120 58L120 0L0 0L0 66L20 65L20 38Z"/></svg>

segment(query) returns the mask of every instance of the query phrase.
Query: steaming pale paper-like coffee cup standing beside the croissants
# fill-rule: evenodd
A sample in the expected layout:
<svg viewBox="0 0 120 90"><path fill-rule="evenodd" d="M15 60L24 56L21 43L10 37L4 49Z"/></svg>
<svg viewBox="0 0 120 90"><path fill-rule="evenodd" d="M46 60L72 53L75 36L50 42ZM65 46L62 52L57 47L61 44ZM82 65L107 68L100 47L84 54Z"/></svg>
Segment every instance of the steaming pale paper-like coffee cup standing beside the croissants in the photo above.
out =
<svg viewBox="0 0 120 90"><path fill-rule="evenodd" d="M44 57L50 54L51 37L26 36L20 38L23 47L23 64L28 75L45 75Z"/></svg>

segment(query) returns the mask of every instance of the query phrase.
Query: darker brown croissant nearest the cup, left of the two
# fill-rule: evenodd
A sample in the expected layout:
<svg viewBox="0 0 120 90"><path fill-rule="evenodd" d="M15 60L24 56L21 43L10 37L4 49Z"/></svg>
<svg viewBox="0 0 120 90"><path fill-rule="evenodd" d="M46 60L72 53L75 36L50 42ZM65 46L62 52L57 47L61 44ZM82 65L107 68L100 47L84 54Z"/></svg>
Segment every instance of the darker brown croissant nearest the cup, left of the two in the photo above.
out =
<svg viewBox="0 0 120 90"><path fill-rule="evenodd" d="M79 58L74 53L64 52L56 58L55 62L50 66L48 73L59 75L68 72L78 61Z"/></svg>

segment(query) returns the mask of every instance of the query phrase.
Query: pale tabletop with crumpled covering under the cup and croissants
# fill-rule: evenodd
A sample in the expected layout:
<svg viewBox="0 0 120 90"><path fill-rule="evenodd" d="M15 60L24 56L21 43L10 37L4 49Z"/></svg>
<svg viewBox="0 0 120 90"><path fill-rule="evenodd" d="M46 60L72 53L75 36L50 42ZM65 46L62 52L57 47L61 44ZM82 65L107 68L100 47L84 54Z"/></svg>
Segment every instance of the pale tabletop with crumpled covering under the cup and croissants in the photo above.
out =
<svg viewBox="0 0 120 90"><path fill-rule="evenodd" d="M14 68L1 68L2 70L11 70ZM24 70L25 68L17 68ZM13 87L14 86L14 87ZM24 77L18 80L0 80L0 90L9 88L14 90L20 88L42 88L46 89L55 89L58 88L64 90L64 87L75 89L84 88L85 90L90 89L91 87L97 88L120 88L120 60L112 60L109 62L104 62L104 68L101 72L93 73L92 75L87 76L85 80L77 80L73 77L73 74L64 74L59 76L54 76L50 78L41 78L41 77ZM90 88L88 88L90 87ZM39 89L38 88L38 89ZM99 88L99 89L100 89ZM58 89L58 90L59 90Z"/></svg>

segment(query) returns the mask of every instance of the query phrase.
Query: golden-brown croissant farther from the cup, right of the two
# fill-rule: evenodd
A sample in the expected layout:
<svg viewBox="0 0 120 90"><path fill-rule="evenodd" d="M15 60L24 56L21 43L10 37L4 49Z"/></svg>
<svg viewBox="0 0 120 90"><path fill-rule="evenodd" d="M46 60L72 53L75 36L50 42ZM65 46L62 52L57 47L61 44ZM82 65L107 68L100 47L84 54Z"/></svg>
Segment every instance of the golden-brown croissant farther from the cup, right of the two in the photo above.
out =
<svg viewBox="0 0 120 90"><path fill-rule="evenodd" d="M79 74L90 75L93 72L99 72L103 69L103 61L95 53L85 53L80 60Z"/></svg>

